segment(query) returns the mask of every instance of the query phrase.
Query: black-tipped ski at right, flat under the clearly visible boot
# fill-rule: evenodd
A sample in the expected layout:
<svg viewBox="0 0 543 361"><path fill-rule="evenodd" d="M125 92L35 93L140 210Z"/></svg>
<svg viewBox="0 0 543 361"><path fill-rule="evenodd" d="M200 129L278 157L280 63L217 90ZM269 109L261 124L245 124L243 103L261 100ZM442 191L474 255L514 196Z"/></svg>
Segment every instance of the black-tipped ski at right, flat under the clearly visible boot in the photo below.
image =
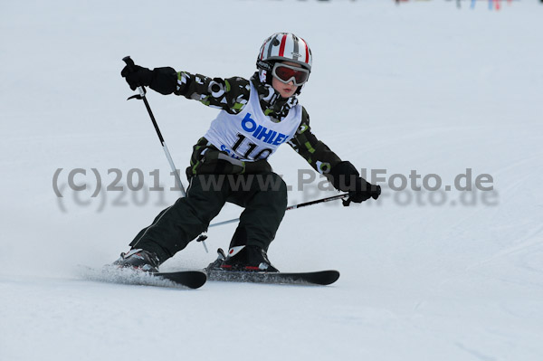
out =
<svg viewBox="0 0 543 361"><path fill-rule="evenodd" d="M305 284L326 286L339 278L339 272L252 272L252 271L223 271L206 269L207 279L228 282L254 282L272 284Z"/></svg>

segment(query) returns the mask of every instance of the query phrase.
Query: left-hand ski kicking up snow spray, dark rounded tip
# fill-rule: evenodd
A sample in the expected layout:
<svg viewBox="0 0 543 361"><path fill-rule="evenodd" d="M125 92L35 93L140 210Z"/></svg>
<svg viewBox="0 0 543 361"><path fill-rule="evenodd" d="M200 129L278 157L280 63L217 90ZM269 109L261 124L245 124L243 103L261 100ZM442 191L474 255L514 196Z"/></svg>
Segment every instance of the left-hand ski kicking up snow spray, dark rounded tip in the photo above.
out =
<svg viewBox="0 0 543 361"><path fill-rule="evenodd" d="M82 277L101 282L189 289L198 289L207 280L204 271L145 272L111 266L100 270L85 267Z"/></svg>

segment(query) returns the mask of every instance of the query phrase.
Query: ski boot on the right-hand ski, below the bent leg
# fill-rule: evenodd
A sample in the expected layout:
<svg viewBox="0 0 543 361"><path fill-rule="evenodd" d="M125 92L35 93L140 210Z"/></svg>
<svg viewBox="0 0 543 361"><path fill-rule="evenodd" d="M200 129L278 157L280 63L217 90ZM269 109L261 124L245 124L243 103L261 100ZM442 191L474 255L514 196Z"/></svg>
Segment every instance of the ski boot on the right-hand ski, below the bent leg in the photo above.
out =
<svg viewBox="0 0 543 361"><path fill-rule="evenodd" d="M220 248L217 253L217 259L207 267L210 271L279 272L271 265L266 252L257 246L232 247L228 251L228 256Z"/></svg>

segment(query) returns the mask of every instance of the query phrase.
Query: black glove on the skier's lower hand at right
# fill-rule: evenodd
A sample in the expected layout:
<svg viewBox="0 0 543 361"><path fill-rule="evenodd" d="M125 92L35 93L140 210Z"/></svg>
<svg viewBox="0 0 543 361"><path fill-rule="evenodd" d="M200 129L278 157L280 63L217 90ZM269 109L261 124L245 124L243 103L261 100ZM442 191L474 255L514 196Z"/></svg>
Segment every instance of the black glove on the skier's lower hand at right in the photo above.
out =
<svg viewBox="0 0 543 361"><path fill-rule="evenodd" d="M381 187L367 183L350 162L340 162L333 166L329 175L336 189L348 192L348 199L343 201L345 206L351 202L362 203L369 198L377 199L381 194Z"/></svg>

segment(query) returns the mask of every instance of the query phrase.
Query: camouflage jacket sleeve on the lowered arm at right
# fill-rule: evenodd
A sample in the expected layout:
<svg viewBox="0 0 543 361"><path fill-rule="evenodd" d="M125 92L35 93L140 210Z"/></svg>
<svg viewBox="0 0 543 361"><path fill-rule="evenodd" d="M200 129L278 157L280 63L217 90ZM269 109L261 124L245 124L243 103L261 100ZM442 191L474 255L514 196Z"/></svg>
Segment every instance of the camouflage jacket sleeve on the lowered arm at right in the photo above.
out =
<svg viewBox="0 0 543 361"><path fill-rule="evenodd" d="M310 116L303 107L300 128L296 131L294 138L289 141L289 145L301 157L304 157L313 169L332 182L333 179L329 173L334 166L341 163L341 159L311 132Z"/></svg>

